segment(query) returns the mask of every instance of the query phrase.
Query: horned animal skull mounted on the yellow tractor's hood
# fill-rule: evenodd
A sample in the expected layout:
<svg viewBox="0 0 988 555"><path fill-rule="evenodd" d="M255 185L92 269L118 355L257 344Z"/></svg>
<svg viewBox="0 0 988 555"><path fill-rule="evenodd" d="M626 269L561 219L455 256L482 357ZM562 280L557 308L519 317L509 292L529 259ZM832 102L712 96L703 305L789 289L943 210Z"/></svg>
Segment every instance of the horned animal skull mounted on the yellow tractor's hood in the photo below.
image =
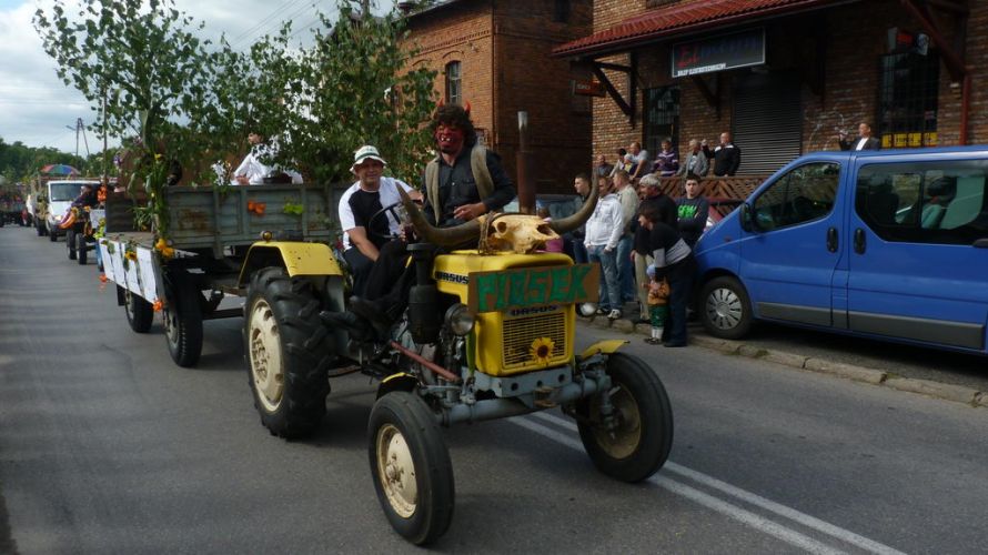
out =
<svg viewBox="0 0 988 555"><path fill-rule="evenodd" d="M597 205L597 188L591 188L591 194L583 206L575 214L561 220L545 222L535 215L488 213L453 228L435 228L401 188L399 194L415 231L426 242L438 246L466 249L471 244L476 244L484 226L490 225L486 234L487 249L514 251L520 254L532 253L544 246L546 241L579 228L589 219Z"/></svg>

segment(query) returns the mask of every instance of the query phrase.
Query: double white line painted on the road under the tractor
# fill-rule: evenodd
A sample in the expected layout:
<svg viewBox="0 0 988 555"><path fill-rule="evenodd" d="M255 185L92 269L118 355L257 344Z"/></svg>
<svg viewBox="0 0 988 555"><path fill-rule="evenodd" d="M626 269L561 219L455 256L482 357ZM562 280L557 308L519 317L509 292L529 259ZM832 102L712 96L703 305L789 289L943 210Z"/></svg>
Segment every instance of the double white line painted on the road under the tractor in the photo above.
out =
<svg viewBox="0 0 988 555"><path fill-rule="evenodd" d="M547 437L556 443L565 445L569 448L576 451L584 451L583 443L579 442L577 437L573 437L571 435L566 435L558 431L545 427L538 423L532 422L533 418L542 420L547 422L554 426L561 426L571 432L576 432L576 424L562 418L559 416L555 416L546 413L533 413L523 417L511 418L510 422L517 424L526 430L535 432L544 437ZM698 484L702 484L712 490L716 490L720 493L724 493L728 496L735 497L745 503L755 505L765 511L774 513L784 518L788 518L793 522L799 523L807 528L815 529L828 536L831 536L841 542L848 543L850 545L857 546L861 549L865 549L869 553L880 554L880 555L905 555L903 552L889 547L885 544L875 542L874 539L869 539L861 535L855 534L848 529L841 528L839 526L835 526L830 523L821 521L819 518L809 516L805 513L800 513L794 508L787 507L774 501L767 500L759 495L756 495L752 492L747 492L739 487L727 484L720 480L717 480L713 476L708 476L700 472L696 472L694 470L687 468L685 466L673 463L672 461L667 461L665 466L663 466L663 471L667 471L668 473L676 474L680 477L692 480ZM736 521L739 521L748 526L752 526L758 531L762 531L766 534L769 534L774 537L777 537L786 543L795 545L799 548L806 549L810 553L841 553L839 549L835 549L825 544L813 539L805 534L800 534L793 528L786 527L782 524L769 521L763 516L759 516L750 511L742 508L737 505L728 503L726 501L719 500L712 495L708 495L699 490L690 487L680 482L676 482L668 476L655 475L649 478L649 482L668 490L677 495L686 497L695 503L698 503L707 508L722 513L726 516L729 516Z"/></svg>

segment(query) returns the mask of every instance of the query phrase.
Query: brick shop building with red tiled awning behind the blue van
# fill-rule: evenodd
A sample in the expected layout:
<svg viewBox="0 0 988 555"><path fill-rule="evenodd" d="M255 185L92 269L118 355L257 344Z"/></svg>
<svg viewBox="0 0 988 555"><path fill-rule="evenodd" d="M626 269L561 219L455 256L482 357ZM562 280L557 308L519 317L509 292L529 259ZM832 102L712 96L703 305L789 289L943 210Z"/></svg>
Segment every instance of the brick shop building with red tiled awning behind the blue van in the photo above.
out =
<svg viewBox="0 0 988 555"><path fill-rule="evenodd" d="M594 155L732 131L766 174L861 121L884 148L988 142L988 0L595 0L553 56L608 91Z"/></svg>

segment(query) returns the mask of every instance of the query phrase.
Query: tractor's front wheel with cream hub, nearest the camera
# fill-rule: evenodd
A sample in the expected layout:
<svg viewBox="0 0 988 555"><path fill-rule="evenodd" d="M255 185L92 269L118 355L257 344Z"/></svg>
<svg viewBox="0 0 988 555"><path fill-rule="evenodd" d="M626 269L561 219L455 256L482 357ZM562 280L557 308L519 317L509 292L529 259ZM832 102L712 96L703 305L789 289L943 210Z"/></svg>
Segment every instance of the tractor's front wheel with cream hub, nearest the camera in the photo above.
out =
<svg viewBox="0 0 988 555"><path fill-rule="evenodd" d="M425 402L403 391L379 398L367 444L374 491L394 531L416 545L442 536L453 519L453 465Z"/></svg>

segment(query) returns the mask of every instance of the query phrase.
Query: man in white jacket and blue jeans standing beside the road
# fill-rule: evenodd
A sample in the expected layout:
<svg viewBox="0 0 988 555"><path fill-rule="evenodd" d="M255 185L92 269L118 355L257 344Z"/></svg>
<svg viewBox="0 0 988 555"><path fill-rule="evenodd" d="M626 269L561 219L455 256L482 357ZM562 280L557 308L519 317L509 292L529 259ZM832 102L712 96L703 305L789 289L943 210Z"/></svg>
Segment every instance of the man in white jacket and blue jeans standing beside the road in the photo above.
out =
<svg viewBox="0 0 988 555"><path fill-rule="evenodd" d="M578 175L577 179L587 179ZM591 263L601 264L601 303L597 314L607 314L609 320L617 320L621 313L621 279L617 274L617 243L624 229L621 201L611 191L607 180L599 180L601 200L594 214L586 222L586 245Z"/></svg>

